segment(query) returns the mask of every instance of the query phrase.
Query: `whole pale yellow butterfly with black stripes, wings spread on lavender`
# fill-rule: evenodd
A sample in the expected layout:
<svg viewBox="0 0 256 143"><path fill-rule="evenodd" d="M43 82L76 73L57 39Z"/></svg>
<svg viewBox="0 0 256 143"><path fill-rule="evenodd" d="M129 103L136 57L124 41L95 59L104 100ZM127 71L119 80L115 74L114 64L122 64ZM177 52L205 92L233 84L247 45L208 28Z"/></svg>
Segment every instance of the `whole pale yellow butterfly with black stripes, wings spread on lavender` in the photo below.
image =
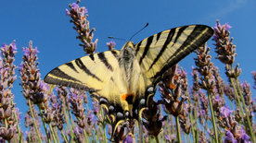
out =
<svg viewBox="0 0 256 143"><path fill-rule="evenodd" d="M126 42L120 51L72 60L54 68L44 80L88 91L108 109L116 128L127 118L138 119L163 73L207 42L212 34L211 27L205 25L163 30L136 44Z"/></svg>

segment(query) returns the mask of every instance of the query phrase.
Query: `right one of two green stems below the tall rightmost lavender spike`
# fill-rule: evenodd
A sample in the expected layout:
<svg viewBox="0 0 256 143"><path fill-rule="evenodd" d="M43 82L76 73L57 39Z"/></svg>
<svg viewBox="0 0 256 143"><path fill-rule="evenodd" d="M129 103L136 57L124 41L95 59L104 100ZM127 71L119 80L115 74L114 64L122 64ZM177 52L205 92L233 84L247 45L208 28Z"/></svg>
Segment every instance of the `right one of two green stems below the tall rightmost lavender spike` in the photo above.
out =
<svg viewBox="0 0 256 143"><path fill-rule="evenodd" d="M239 86L239 83L238 83L237 78L236 78L236 83L237 83L237 89L238 89L240 98L241 98L241 100L242 100L242 102L243 102L243 106L244 106L244 109L245 109L246 119L247 119L247 125L248 125L249 130L250 130L250 137L251 137L252 142L255 142L254 134L253 134L252 127L251 127L251 124L250 124L249 113L248 113L247 106L246 106L246 103L245 103L245 100L244 100L244 97L243 97L242 91L241 91L241 89L240 89L240 86Z"/></svg>

